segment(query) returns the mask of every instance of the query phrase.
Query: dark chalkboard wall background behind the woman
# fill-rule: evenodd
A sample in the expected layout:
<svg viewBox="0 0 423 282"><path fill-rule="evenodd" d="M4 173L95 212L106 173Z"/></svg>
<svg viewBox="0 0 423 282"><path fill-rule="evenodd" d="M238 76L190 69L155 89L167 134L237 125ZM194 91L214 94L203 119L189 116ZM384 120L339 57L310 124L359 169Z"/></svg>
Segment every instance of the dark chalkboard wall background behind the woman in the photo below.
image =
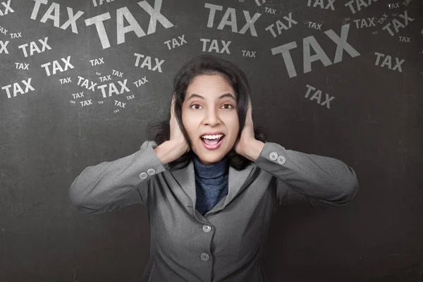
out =
<svg viewBox="0 0 423 282"><path fill-rule="evenodd" d="M148 123L167 116L173 75L200 54L245 71L253 121L270 142L341 159L357 173L359 192L347 207L278 209L263 257L272 281L423 281L422 1L336 0L333 8L329 0L138 1L161 3L172 25L157 21L148 33L152 17L137 1L0 2L0 281L140 278L149 258L145 207L83 214L68 190L86 166L140 149ZM211 27L209 5L221 7ZM83 12L75 20L78 33L60 28L67 7ZM218 28L232 8L237 32L230 24ZM118 32L117 11L125 13L124 26L132 15L145 36ZM255 32L240 33L243 11L260 14ZM106 13L110 47L86 24ZM341 29L358 55L341 48L334 62L338 44L328 30L343 37ZM165 42L172 47L173 38L178 44L169 49ZM205 49L201 39L210 40ZM213 40L219 53L210 48ZM297 46L290 49L292 64L271 51L290 42ZM304 59L309 44L311 63ZM314 56L318 47L328 66L322 53ZM135 66L135 53L149 56L152 68L141 67L144 58ZM164 62L153 70L155 59ZM50 75L44 63L51 63ZM107 86L106 97L84 87L113 82L121 92L124 80L130 92L109 96ZM315 90L306 97L309 87ZM325 93L334 97L329 104Z"/></svg>

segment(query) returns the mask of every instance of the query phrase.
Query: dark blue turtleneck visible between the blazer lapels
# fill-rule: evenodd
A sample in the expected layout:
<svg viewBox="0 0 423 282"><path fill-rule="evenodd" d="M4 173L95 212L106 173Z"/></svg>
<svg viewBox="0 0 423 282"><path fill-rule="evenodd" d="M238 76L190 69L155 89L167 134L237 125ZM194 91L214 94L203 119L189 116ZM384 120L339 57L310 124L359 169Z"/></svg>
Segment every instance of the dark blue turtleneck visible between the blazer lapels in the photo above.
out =
<svg viewBox="0 0 423 282"><path fill-rule="evenodd" d="M205 166L194 154L192 158L195 168L195 191L197 200L195 209L204 216L223 197L228 195L229 166L226 157Z"/></svg>

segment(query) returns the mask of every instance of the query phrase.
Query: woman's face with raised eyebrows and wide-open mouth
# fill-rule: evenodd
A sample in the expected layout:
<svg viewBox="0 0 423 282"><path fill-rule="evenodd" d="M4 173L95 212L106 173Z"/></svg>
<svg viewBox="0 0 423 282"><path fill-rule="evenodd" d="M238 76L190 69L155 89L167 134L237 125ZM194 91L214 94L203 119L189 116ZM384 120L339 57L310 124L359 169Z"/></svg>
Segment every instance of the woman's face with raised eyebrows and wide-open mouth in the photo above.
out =
<svg viewBox="0 0 423 282"><path fill-rule="evenodd" d="M239 130L236 106L236 93L221 75L198 75L188 86L182 122L192 142L191 149L202 164L220 161L235 145ZM223 139L219 147L208 149L201 136L216 132L223 134Z"/></svg>

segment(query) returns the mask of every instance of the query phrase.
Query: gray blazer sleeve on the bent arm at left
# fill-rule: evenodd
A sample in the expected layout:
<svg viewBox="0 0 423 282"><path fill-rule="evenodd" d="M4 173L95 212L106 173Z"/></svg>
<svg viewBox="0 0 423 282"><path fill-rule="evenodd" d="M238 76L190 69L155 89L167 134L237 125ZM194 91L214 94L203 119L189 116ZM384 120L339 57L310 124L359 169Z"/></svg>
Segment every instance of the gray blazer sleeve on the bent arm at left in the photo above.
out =
<svg viewBox="0 0 423 282"><path fill-rule="evenodd" d="M73 180L69 197L75 207L102 214L148 200L149 180L166 170L154 152L157 143L145 141L140 150L115 161L88 166Z"/></svg>

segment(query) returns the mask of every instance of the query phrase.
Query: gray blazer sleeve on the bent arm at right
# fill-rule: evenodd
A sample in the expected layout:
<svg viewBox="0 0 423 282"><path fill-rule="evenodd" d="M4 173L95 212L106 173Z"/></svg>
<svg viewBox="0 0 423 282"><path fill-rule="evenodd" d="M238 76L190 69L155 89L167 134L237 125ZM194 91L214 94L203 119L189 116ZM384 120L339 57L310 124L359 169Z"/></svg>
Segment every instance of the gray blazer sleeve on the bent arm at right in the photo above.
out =
<svg viewBox="0 0 423 282"><path fill-rule="evenodd" d="M255 164L276 177L280 205L343 206L358 190L355 171L342 161L285 149L273 142L264 143Z"/></svg>

